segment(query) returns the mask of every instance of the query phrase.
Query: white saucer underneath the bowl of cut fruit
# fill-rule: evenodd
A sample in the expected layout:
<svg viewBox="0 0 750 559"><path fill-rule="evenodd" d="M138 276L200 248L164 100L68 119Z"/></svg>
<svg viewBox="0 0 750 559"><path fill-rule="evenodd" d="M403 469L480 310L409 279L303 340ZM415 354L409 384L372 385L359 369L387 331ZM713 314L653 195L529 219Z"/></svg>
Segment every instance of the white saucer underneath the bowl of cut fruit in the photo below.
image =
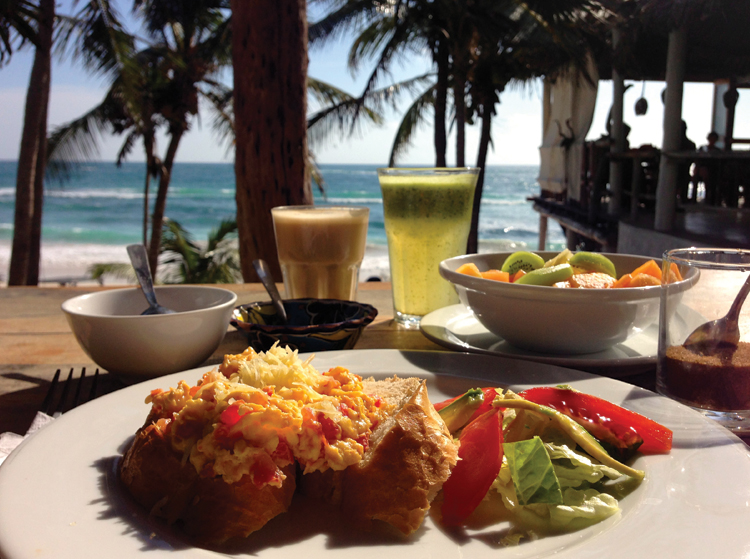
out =
<svg viewBox="0 0 750 559"><path fill-rule="evenodd" d="M605 351L577 355L537 353L514 347L491 333L462 304L429 313L422 318L420 329L430 340L450 349L574 367L611 377L624 377L654 368L659 345L659 328L652 324Z"/></svg>

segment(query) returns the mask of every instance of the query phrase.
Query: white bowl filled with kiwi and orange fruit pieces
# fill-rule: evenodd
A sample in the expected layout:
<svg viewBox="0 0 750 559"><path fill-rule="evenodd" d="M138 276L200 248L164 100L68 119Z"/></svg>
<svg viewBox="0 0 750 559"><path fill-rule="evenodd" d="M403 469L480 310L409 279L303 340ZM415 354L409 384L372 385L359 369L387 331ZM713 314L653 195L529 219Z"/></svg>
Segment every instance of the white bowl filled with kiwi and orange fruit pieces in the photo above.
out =
<svg viewBox="0 0 750 559"><path fill-rule="evenodd" d="M535 251L548 260L557 252ZM659 320L662 286L618 289L560 289L516 285L459 274L468 262L480 271L500 269L511 252L467 254L440 263L440 275L453 283L461 302L490 332L508 343L541 353L583 354L603 351ZM646 256L605 254L617 277L651 260ZM654 258L661 266L661 260ZM697 276L668 286L683 291Z"/></svg>

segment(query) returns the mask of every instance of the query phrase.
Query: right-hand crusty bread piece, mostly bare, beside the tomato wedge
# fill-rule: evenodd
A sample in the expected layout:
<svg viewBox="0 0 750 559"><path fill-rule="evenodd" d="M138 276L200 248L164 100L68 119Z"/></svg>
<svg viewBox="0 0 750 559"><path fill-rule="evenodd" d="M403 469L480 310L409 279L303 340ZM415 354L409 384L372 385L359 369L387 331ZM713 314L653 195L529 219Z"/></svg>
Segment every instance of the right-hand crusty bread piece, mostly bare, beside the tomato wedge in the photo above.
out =
<svg viewBox="0 0 750 559"><path fill-rule="evenodd" d="M418 378L364 381L393 412L370 437L363 459L343 471L299 476L301 491L340 504L347 518L368 528L374 520L403 534L417 530L458 460L458 445Z"/></svg>

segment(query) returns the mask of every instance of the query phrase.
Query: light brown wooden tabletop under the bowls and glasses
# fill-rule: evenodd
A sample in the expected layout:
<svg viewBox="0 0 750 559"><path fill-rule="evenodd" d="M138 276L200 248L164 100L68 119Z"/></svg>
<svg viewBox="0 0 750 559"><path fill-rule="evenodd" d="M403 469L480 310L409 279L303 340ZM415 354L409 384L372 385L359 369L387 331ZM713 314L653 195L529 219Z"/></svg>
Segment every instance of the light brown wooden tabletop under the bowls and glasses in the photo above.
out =
<svg viewBox="0 0 750 559"><path fill-rule="evenodd" d="M237 304L268 300L259 283L222 287L237 293ZM96 369L73 337L60 305L71 297L102 289L108 288L0 288L0 433L26 432L58 368L64 374L71 367ZM445 350L418 330L393 323L390 283L363 283L358 299L378 309L378 316L365 329L356 349ZM230 327L207 363L218 363L225 354L241 353L246 347L244 337ZM111 391L119 387L119 381L104 375L100 387Z"/></svg>

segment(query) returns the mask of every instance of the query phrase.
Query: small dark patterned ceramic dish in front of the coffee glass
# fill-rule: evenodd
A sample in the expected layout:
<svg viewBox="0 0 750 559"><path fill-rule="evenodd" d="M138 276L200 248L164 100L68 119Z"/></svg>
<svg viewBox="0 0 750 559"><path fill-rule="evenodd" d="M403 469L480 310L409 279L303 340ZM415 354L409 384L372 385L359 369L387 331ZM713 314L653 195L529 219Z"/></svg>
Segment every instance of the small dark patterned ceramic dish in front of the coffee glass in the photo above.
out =
<svg viewBox="0 0 750 559"><path fill-rule="evenodd" d="M372 305L336 299L288 299L284 309L288 324L279 323L270 301L235 307L230 323L255 351L267 351L279 342L307 353L353 348L378 315Z"/></svg>

